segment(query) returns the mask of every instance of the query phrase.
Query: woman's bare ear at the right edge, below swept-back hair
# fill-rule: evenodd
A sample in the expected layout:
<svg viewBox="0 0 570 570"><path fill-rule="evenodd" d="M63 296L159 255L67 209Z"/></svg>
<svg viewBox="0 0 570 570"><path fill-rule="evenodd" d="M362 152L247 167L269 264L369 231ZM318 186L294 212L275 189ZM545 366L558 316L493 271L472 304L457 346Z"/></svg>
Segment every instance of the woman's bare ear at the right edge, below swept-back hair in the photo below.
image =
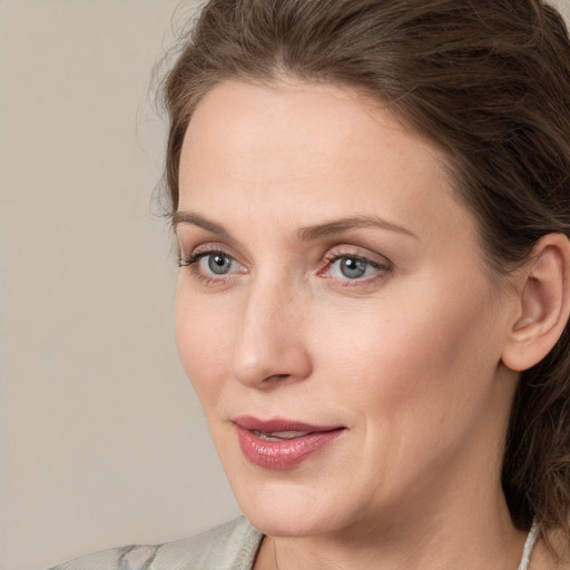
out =
<svg viewBox="0 0 570 570"><path fill-rule="evenodd" d="M538 364L560 338L570 314L570 242L543 236L518 281L519 313L501 354L514 371Z"/></svg>

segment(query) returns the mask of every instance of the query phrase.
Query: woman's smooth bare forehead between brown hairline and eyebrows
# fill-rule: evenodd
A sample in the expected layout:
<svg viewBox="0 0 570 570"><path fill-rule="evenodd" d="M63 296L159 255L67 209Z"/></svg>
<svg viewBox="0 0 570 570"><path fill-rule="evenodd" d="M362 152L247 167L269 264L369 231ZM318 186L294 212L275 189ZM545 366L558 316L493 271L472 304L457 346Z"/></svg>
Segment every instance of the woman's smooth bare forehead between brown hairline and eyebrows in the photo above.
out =
<svg viewBox="0 0 570 570"><path fill-rule="evenodd" d="M220 83L189 124L179 183L181 210L224 223L372 213L414 233L471 225L439 149L390 110L328 85Z"/></svg>

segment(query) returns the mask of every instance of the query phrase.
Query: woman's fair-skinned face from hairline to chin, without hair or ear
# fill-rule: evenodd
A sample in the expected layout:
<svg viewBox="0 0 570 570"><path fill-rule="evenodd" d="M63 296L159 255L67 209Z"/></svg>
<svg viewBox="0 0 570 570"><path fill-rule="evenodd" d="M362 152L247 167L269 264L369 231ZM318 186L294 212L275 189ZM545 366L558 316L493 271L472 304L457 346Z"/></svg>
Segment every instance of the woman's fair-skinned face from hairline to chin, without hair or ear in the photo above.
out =
<svg viewBox="0 0 570 570"><path fill-rule="evenodd" d="M515 306L444 173L389 111L332 86L226 82L196 109L178 346L267 533L441 514L500 487Z"/></svg>

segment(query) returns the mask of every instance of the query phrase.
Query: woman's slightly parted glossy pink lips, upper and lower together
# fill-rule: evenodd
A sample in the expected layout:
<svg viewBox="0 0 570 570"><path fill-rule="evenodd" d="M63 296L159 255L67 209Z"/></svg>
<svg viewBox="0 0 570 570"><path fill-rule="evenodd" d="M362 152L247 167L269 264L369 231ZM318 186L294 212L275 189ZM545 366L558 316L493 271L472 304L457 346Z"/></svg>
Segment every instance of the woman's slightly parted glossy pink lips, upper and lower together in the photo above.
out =
<svg viewBox="0 0 570 570"><path fill-rule="evenodd" d="M285 470L333 443L343 426L312 425L289 420L258 420L240 415L234 420L242 453L254 465Z"/></svg>

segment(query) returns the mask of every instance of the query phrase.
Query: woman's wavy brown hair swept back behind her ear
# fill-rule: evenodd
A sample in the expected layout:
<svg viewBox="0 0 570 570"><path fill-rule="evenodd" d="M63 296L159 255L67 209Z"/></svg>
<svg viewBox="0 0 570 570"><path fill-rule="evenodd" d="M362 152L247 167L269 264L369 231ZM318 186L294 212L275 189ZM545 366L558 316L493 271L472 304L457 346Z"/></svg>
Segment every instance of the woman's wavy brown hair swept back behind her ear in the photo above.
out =
<svg viewBox="0 0 570 570"><path fill-rule="evenodd" d="M164 83L166 181L178 206L180 148L200 98L226 79L284 73L387 102L444 149L490 267L570 235L570 41L541 0L212 0ZM514 523L570 543L570 335L524 372L503 489Z"/></svg>

